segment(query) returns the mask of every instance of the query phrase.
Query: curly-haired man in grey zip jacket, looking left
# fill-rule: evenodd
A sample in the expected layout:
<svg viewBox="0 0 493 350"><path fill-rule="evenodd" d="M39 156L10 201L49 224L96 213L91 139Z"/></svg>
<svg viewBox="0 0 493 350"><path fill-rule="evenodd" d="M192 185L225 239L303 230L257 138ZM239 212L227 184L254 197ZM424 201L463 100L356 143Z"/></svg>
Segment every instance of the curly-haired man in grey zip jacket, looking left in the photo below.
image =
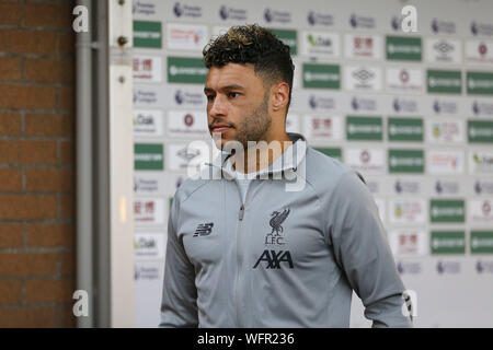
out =
<svg viewBox="0 0 493 350"><path fill-rule="evenodd" d="M226 156L210 164L213 179L175 194L160 326L348 327L354 290L375 327L409 327L371 195L285 131L288 46L238 26L206 46L204 61L209 129Z"/></svg>

